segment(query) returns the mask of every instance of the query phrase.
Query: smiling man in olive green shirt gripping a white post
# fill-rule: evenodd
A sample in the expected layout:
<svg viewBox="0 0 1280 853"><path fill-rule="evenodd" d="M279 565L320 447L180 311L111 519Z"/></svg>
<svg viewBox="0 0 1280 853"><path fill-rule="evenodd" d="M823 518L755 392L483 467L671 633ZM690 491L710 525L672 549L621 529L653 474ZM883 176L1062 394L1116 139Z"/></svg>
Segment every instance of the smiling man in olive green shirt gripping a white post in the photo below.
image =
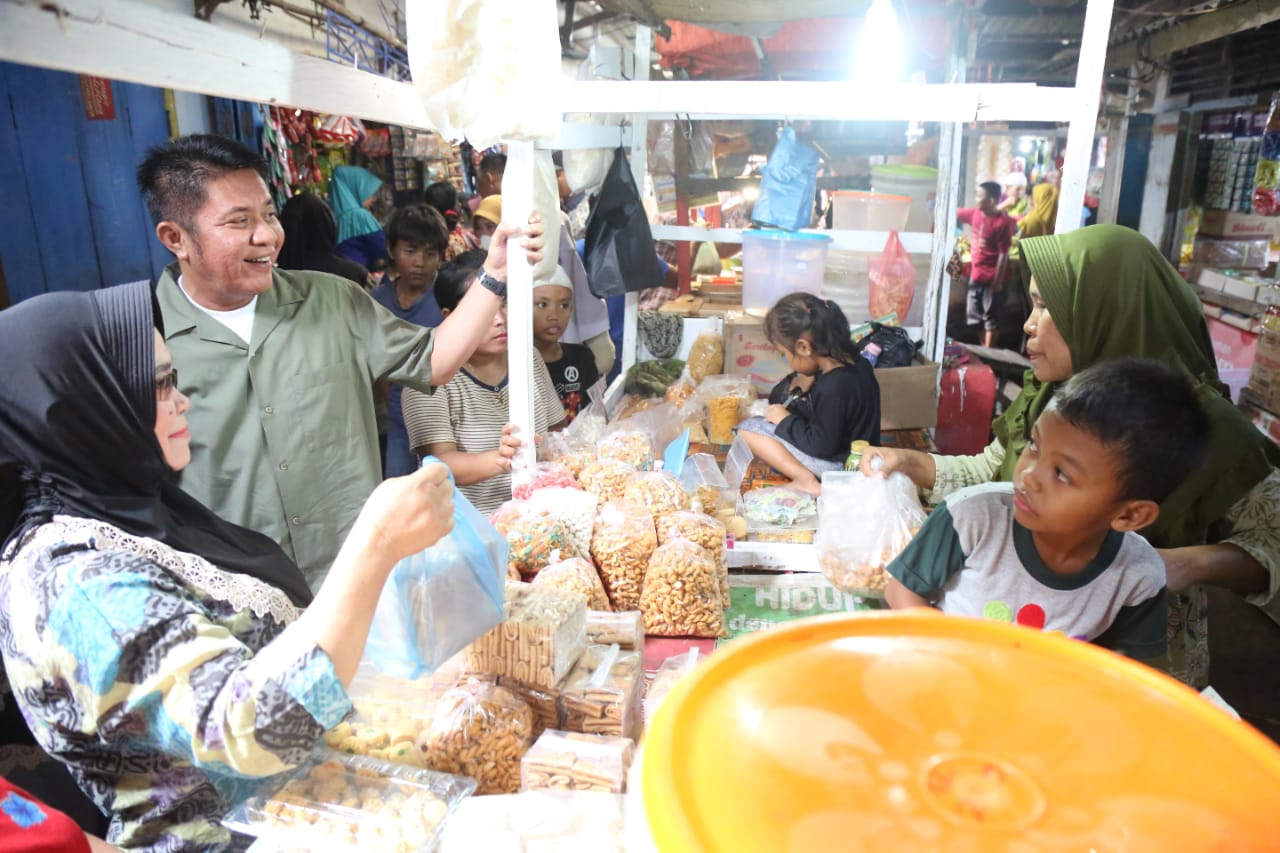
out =
<svg viewBox="0 0 1280 853"><path fill-rule="evenodd" d="M284 234L265 177L261 158L215 136L152 149L138 168L177 257L156 296L192 400L182 488L276 539L316 589L381 479L374 382L430 392L452 378L506 298L507 238L520 229L494 234L483 287L425 329L346 279L274 269ZM525 233L536 261L538 229Z"/></svg>

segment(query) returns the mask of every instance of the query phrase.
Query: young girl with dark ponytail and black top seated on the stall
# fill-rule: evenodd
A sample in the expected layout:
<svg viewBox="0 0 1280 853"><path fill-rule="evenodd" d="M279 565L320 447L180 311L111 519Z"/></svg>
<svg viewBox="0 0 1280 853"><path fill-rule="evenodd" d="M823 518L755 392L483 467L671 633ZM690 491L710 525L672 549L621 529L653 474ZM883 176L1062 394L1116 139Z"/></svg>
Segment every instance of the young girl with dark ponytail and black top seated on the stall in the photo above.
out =
<svg viewBox="0 0 1280 853"><path fill-rule="evenodd" d="M739 434L792 488L818 494L823 473L844 467L852 442L879 444L876 371L831 300L788 293L769 309L764 333L795 371L791 401L742 421Z"/></svg>

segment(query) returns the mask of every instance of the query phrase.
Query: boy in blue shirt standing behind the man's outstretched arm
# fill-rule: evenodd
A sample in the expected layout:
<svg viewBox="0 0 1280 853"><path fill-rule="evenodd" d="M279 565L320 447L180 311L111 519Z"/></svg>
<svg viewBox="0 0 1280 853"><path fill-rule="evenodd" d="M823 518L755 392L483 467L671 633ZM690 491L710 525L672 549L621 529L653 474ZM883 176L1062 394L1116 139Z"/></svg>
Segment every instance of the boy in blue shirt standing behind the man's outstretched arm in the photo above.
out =
<svg viewBox="0 0 1280 853"><path fill-rule="evenodd" d="M387 247L392 257L389 274L374 288L372 297L402 320L436 327L444 320L434 295L435 275L449 246L444 218L429 205L401 207L387 222ZM375 387L387 401L387 444L383 475L403 476L417 470L417 457L408 444L401 411L403 387ZM375 400L375 403L379 402Z"/></svg>

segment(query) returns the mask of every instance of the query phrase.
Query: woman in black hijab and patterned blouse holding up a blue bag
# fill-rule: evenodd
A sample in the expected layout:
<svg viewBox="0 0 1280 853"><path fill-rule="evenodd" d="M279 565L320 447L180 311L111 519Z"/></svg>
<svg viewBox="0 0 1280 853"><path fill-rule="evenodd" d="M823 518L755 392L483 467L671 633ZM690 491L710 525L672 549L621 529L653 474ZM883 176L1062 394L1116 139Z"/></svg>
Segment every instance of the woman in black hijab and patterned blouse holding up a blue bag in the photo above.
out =
<svg viewBox="0 0 1280 853"><path fill-rule="evenodd" d="M157 318L145 284L0 313L0 653L110 841L216 850L229 804L349 711L383 583L448 533L452 488L442 465L383 483L311 601L170 483L189 401Z"/></svg>

